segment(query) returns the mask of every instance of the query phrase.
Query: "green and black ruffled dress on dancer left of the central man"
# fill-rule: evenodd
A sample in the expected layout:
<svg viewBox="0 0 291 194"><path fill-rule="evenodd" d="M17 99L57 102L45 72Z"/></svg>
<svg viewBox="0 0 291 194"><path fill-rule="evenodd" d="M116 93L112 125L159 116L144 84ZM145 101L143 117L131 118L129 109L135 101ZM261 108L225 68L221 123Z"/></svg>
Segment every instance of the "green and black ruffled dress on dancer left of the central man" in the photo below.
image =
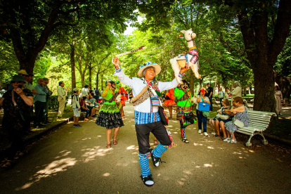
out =
<svg viewBox="0 0 291 194"><path fill-rule="evenodd" d="M96 119L96 124L101 127L106 127L106 129L124 126L119 109L115 103L115 96L113 96L114 94L115 93L112 93L112 91L108 89L106 96L103 97L104 103L101 106L99 115Z"/></svg>

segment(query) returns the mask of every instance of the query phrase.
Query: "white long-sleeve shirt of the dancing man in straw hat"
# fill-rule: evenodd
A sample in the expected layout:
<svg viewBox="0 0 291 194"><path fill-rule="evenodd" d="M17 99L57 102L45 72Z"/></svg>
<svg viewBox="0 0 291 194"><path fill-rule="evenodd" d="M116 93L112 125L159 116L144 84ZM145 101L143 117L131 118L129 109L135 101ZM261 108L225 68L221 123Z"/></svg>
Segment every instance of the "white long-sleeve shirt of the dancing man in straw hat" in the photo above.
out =
<svg viewBox="0 0 291 194"><path fill-rule="evenodd" d="M124 72L119 69L115 70L114 75L116 75L122 84L129 86L132 89L132 93L134 96L138 95L138 93L141 93L143 88L147 85L146 82L143 81L141 78L132 77L129 78L127 75L124 75ZM179 75L180 80L182 79L183 75ZM157 85L157 88L160 90L160 92L164 90L174 89L176 86L178 86L178 82L175 79L172 80L172 82L159 82ZM143 103L139 105L134 106L134 110L138 112L150 112L150 98L146 99ZM153 106L153 112L157 112L158 107Z"/></svg>

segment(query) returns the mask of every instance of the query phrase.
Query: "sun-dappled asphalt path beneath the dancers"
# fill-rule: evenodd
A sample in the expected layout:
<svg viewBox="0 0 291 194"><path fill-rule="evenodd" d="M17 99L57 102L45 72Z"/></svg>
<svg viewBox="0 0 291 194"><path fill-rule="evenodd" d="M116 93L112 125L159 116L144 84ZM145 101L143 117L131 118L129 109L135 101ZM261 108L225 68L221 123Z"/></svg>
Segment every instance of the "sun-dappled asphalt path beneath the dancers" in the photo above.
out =
<svg viewBox="0 0 291 194"><path fill-rule="evenodd" d="M105 128L95 119L81 128L66 124L31 145L13 169L0 170L0 193L290 193L290 164L245 142L198 134L198 124L186 128L190 143L183 143L176 120L169 129L177 146L160 167L149 160L155 185L148 188L139 177L134 108L124 111L117 145L105 148Z"/></svg>

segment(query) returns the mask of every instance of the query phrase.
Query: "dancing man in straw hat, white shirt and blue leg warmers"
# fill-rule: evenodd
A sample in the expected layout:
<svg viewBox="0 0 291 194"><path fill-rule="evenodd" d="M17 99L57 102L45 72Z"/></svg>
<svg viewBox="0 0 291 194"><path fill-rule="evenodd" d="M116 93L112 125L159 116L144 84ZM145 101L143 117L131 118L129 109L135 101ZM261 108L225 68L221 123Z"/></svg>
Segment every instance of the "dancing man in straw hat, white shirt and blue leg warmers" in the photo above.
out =
<svg viewBox="0 0 291 194"><path fill-rule="evenodd" d="M148 158L151 156L153 165L159 166L160 157L164 151L171 147L172 141L167 134L167 129L160 121L158 113L158 102L160 93L164 90L174 89L179 83L176 79L172 82L159 82L155 76L161 71L160 65L150 61L141 65L138 76L141 78L129 78L119 67L119 59L113 58L115 65L115 75L122 84L129 86L135 96L134 99L134 119L136 122L136 136L138 140L138 160L141 165L141 179L145 186L153 186L154 181L148 167ZM182 79L183 73L188 69L181 69L179 78ZM160 143L155 149L150 149L149 136L152 132Z"/></svg>

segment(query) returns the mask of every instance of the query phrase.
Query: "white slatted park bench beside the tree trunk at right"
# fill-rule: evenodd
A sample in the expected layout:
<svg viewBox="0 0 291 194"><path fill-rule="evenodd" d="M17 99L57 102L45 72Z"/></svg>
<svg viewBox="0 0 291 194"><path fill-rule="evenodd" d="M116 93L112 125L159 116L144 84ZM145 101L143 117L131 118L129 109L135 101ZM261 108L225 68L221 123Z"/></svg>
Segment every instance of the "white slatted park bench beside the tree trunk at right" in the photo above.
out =
<svg viewBox="0 0 291 194"><path fill-rule="evenodd" d="M266 138L263 135L263 131L265 131L269 127L269 123L271 121L272 116L276 116L275 112L261 112L256 110L248 110L248 115L250 117L250 124L248 127L239 128L236 132L247 134L250 136L247 143L245 143L246 146L252 145L250 143L250 140L255 135L261 135L264 140L264 145L268 144L268 141L266 141Z"/></svg>

